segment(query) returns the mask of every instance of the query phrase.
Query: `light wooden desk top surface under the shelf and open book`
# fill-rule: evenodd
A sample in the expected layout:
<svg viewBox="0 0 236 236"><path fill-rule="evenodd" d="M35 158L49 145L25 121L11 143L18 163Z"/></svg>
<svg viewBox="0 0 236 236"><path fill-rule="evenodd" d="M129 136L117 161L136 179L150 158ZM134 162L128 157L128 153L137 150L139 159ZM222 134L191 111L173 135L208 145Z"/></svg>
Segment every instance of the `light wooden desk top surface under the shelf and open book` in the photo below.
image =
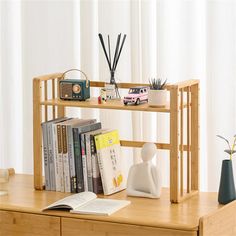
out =
<svg viewBox="0 0 236 236"><path fill-rule="evenodd" d="M0 185L0 188L4 187ZM127 197L126 192L106 198L127 199L131 204L111 216L93 216L70 214L64 211L46 211L41 209L68 196L67 193L36 191L33 188L33 176L14 175L7 184L8 195L0 196L0 210L20 211L42 215L65 216L132 225L144 225L170 229L196 230L201 217L212 214L222 208L217 202L217 193L199 193L180 204L169 202L168 189L162 190L160 199ZM104 196L99 196L104 197Z"/></svg>

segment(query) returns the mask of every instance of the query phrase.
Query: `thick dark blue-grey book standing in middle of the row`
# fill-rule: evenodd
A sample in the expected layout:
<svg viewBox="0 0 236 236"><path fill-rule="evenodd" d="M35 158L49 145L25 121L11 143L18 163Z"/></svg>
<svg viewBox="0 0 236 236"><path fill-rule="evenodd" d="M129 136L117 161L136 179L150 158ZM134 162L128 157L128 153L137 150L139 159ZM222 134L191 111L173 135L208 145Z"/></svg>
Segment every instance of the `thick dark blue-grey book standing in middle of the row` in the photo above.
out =
<svg viewBox="0 0 236 236"><path fill-rule="evenodd" d="M81 134L89 131L101 129L101 122L90 125L72 128L74 140L74 156L75 156L75 171L76 171L76 190L77 192L84 191L84 178L83 178L83 164L81 153Z"/></svg>

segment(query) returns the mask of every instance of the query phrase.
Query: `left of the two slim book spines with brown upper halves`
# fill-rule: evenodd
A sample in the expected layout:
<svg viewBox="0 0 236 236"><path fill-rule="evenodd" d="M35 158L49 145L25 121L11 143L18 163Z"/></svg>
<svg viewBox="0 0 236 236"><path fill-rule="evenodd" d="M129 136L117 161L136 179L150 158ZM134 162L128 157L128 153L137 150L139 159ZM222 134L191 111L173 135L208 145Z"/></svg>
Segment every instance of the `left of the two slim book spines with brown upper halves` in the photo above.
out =
<svg viewBox="0 0 236 236"><path fill-rule="evenodd" d="M61 125L57 124L57 155L58 155L58 171L60 179L60 191L65 192L64 186L64 171L63 171L63 154L62 154L62 129Z"/></svg>

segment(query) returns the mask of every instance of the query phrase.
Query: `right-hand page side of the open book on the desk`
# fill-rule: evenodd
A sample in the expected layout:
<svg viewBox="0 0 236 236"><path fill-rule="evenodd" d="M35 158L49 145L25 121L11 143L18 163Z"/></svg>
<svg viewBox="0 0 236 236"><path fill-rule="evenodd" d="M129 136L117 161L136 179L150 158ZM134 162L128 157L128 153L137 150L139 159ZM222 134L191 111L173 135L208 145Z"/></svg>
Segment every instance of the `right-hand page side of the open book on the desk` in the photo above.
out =
<svg viewBox="0 0 236 236"><path fill-rule="evenodd" d="M100 199L96 198L87 204L71 210L71 213L93 214L93 215L111 215L119 209L130 204L126 200Z"/></svg>

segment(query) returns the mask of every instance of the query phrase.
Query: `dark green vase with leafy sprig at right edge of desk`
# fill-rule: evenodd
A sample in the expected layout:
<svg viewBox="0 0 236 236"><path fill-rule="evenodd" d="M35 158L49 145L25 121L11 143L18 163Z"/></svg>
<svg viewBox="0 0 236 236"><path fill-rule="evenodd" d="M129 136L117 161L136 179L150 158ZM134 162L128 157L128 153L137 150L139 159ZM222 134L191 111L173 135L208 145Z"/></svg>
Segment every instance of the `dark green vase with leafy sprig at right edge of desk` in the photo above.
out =
<svg viewBox="0 0 236 236"><path fill-rule="evenodd" d="M232 146L230 146L229 141L221 135L217 137L223 139L227 145L228 149L225 149L224 152L229 154L229 159L223 160L221 167L221 177L220 177L220 187L218 193L218 202L220 204L227 204L236 199L235 185L234 185L234 175L232 168L232 156L236 152L236 135L234 135L234 141Z"/></svg>

